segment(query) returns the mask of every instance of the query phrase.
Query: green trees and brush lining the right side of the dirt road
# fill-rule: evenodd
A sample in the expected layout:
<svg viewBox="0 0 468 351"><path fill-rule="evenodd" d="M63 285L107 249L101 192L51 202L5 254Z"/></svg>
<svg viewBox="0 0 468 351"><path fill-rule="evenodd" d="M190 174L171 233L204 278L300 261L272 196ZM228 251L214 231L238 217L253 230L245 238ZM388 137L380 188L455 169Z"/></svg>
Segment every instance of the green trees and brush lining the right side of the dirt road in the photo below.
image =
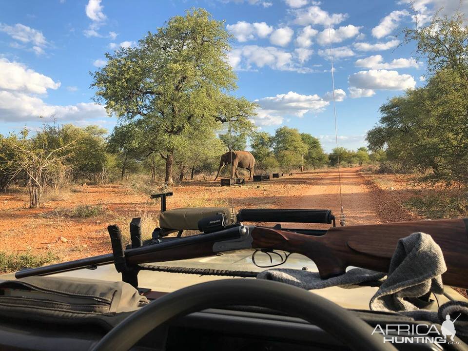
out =
<svg viewBox="0 0 468 351"><path fill-rule="evenodd" d="M367 134L369 149L385 154L384 171L409 173L424 185L408 205L422 215L466 215L468 204L468 28L461 13L434 16L404 31L426 59L426 85L391 98Z"/></svg>

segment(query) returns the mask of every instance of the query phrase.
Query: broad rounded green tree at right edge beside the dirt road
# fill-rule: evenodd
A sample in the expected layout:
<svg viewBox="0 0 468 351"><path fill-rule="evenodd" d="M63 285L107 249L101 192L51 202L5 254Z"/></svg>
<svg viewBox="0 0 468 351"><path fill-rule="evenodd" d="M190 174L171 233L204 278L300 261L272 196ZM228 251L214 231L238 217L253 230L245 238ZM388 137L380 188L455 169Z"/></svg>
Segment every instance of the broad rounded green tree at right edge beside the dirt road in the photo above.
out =
<svg viewBox="0 0 468 351"><path fill-rule="evenodd" d="M379 124L367 134L372 152L416 169L422 181L468 184L468 90L457 72L443 69L426 87L381 106Z"/></svg>

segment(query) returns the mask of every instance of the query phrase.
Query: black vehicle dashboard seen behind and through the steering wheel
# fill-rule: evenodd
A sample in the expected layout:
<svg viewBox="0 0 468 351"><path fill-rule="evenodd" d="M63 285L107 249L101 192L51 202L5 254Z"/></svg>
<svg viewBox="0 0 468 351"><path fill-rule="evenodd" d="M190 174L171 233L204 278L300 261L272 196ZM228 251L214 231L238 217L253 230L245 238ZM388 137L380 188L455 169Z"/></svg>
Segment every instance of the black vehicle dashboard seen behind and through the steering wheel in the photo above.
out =
<svg viewBox="0 0 468 351"><path fill-rule="evenodd" d="M368 323L395 323L401 316L356 312ZM405 319L407 321L407 319ZM95 325L0 321L0 350L88 350L104 334ZM444 350L433 344L400 344L399 350ZM466 350L466 344L447 350ZM300 319L253 307L191 313L148 333L132 350L303 351L348 350L339 340Z"/></svg>

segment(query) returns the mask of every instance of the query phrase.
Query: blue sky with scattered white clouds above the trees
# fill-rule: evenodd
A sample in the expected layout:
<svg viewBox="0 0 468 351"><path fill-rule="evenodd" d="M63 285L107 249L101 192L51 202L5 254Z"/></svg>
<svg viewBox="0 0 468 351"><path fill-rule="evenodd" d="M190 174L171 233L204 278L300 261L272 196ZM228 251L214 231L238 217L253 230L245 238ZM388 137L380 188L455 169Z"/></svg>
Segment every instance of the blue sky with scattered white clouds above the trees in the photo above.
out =
<svg viewBox="0 0 468 351"><path fill-rule="evenodd" d="M137 45L192 7L225 21L236 96L259 105L254 123L281 126L335 145L330 39L338 144L365 146L389 98L425 84L425 62L403 28L428 23L468 0L23 0L0 2L0 133L57 123L116 125L93 102L90 73L104 54Z"/></svg>

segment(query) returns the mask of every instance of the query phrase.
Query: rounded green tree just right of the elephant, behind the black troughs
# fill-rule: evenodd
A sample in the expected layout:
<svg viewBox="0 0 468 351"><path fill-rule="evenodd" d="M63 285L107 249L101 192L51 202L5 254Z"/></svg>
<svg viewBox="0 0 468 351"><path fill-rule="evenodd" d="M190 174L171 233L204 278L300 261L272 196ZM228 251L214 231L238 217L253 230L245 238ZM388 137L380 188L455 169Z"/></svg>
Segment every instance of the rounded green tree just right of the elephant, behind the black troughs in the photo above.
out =
<svg viewBox="0 0 468 351"><path fill-rule="evenodd" d="M302 141L299 131L294 128L278 128L273 137L273 152L284 171L304 167L307 145Z"/></svg>

